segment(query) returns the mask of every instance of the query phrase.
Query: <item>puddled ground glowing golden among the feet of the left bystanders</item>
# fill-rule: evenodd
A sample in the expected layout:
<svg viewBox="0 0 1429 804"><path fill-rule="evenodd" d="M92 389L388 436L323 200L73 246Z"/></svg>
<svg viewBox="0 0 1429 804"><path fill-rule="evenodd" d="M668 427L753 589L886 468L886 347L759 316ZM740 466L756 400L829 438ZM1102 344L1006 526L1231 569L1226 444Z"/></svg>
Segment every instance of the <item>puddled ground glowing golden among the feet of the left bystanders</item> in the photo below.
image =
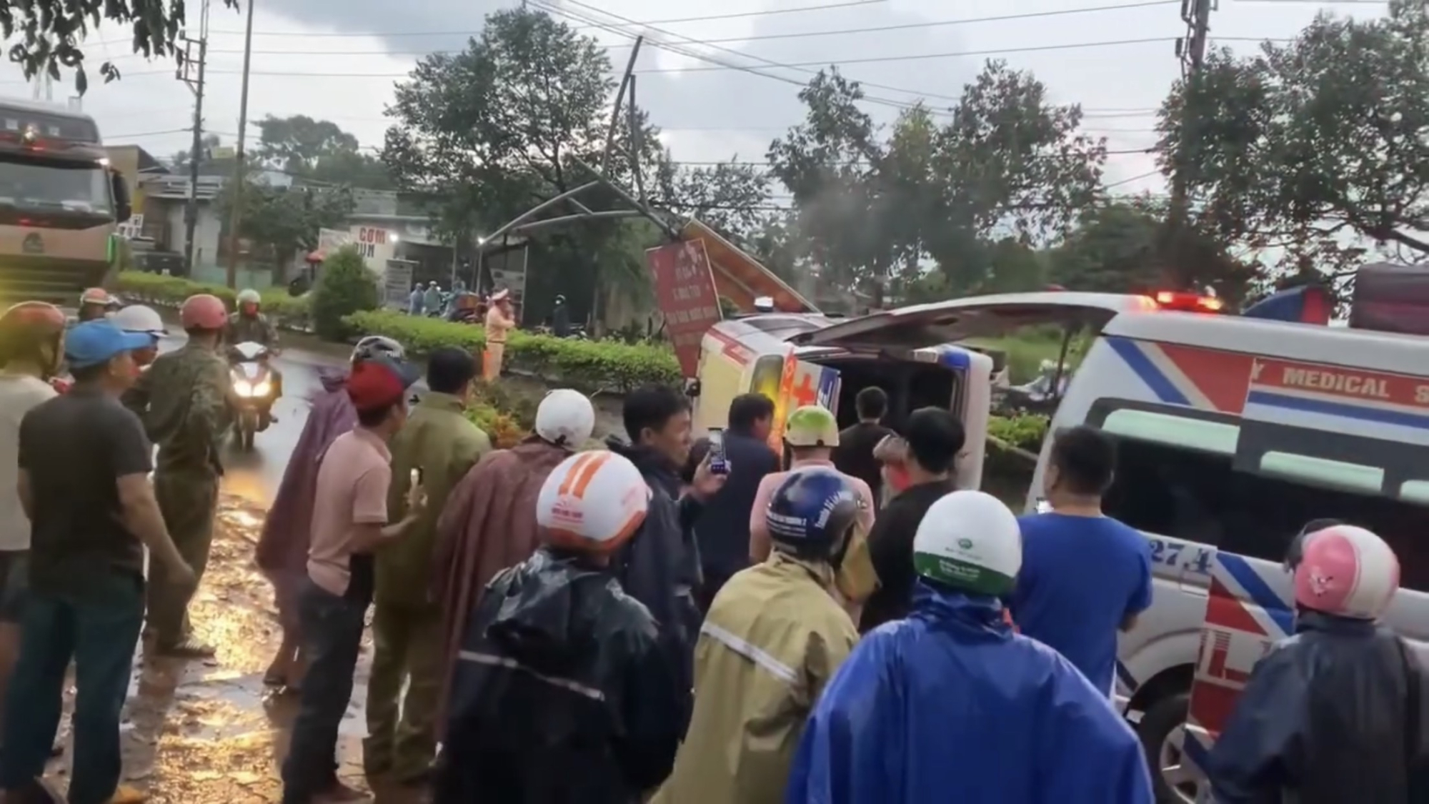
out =
<svg viewBox="0 0 1429 804"><path fill-rule="evenodd" d="M273 804L282 797L279 767L297 695L263 685L263 672L280 641L267 581L253 567L254 529L263 511L226 498L203 587L190 607L197 637L214 645L211 660L150 657L140 649L124 707L124 783L149 791L154 804ZM364 637L353 701L339 738L339 775L366 787L362 774L363 704L367 697L370 637ZM66 712L73 707L73 682ZM50 764L63 784L69 767L69 722L60 728L66 751ZM417 801L387 793L387 804Z"/></svg>

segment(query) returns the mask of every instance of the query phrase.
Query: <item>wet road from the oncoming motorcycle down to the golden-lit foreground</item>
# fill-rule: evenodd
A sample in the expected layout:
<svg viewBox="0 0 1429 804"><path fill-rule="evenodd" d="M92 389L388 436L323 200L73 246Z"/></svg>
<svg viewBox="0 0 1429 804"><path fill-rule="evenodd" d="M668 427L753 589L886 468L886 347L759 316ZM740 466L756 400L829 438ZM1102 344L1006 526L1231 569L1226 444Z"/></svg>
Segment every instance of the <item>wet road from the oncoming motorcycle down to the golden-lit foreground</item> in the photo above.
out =
<svg viewBox="0 0 1429 804"><path fill-rule="evenodd" d="M163 350L183 336L167 338ZM157 804L273 804L282 795L279 767L296 695L263 685L280 641L277 612L267 581L253 565L253 548L267 506L283 478L289 455L307 419L307 398L320 388L319 369L340 366L343 349L289 348L277 358L283 393L277 421L257 435L252 454L230 451L219 506L213 552L203 584L190 607L196 637L217 648L211 660L173 660L144 655L134 662L123 725L123 784L149 794ZM540 392L534 382L514 379ZM607 401L597 413L597 435L617 425ZM339 775L350 785L370 788L362 771L364 701L372 660L372 637L364 635L353 701L343 721ZM67 690L73 702L73 687ZM69 742L69 721L60 725ZM50 765L60 785L69 751ZM423 801L420 791L377 787L380 804Z"/></svg>

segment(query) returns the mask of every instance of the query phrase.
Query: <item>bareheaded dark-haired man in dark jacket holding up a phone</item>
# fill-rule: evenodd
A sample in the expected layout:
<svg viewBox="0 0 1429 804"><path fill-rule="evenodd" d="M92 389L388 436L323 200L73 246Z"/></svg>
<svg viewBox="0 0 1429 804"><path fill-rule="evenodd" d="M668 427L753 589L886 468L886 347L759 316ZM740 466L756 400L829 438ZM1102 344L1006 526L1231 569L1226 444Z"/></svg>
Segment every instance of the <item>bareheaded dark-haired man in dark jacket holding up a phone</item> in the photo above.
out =
<svg viewBox="0 0 1429 804"><path fill-rule="evenodd" d="M689 494L680 494L679 472L690 452L690 403L679 391L637 388L626 395L622 416L630 443L612 438L607 446L640 469L650 486L650 511L613 567L624 591L654 617L660 647L679 670L680 688L693 690L694 641L703 619L694 599L702 582L694 522L727 475L712 474L706 461L696 469Z"/></svg>

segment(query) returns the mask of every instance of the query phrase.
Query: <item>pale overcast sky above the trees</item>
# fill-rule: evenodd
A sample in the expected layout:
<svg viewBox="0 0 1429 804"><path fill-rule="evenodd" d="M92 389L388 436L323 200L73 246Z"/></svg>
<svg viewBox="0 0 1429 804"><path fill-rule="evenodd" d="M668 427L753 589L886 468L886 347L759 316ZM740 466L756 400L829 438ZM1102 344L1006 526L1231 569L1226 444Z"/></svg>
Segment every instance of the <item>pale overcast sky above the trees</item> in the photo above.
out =
<svg viewBox="0 0 1429 804"><path fill-rule="evenodd" d="M249 119L309 114L336 122L364 146L379 146L393 82L423 54L464 47L487 11L519 0L256 1ZM1082 103L1087 132L1106 136L1109 149L1132 152L1109 157L1109 183L1155 169L1150 156L1137 152L1155 142L1153 110L1179 74L1175 39L1185 33L1180 0L542 3L559 4L573 24L587 20L586 30L610 47L617 70L629 57L633 34L647 34L636 67L639 103L667 132L666 142L679 160L726 160L737 155L762 162L769 140L802 119L796 93L823 64L837 63L846 76L863 82L866 93L877 99L866 104L867 110L890 122L902 104L917 99L935 109L953 104L982 63L1000 57L1036 73L1057 102ZM197 27L199 3L189 0L189 6ZM1370 16L1382 14L1385 7L1343 0L1220 0L1210 23L1212 46L1248 52L1259 39L1293 36L1322 9ZM720 19L707 19L714 16ZM592 27L589 20L614 30ZM649 21L657 30L634 21ZM231 143L239 117L243 19L214 1L210 29L204 120L209 130ZM820 31L840 33L810 36ZM91 84L83 102L97 117L106 142L137 143L160 157L186 147L190 134L183 129L191 124L193 93L174 79L173 64L130 54L124 31L116 27L91 37L91 76L97 77L97 66L106 59L113 59L124 77ZM31 93L13 64L0 66L0 92L21 97ZM67 82L54 86L57 100L69 94ZM250 137L254 133L250 127ZM1163 185L1152 176L1125 182L1122 189L1159 192Z"/></svg>

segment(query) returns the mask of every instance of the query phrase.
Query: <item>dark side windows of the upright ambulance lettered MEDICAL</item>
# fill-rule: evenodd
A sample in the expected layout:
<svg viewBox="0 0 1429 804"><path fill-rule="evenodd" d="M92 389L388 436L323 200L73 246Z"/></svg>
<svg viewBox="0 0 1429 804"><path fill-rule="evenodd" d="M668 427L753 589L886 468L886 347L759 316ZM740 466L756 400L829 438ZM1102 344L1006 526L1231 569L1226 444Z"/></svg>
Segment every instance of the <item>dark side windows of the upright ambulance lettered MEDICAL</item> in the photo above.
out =
<svg viewBox="0 0 1429 804"><path fill-rule="evenodd" d="M1113 399L1087 423L1116 438L1103 508L1133 528L1279 562L1306 522L1343 519L1383 536L1402 584L1429 591L1429 479L1406 465L1423 448L1396 455L1403 445ZM1326 458L1330 448L1345 458Z"/></svg>

